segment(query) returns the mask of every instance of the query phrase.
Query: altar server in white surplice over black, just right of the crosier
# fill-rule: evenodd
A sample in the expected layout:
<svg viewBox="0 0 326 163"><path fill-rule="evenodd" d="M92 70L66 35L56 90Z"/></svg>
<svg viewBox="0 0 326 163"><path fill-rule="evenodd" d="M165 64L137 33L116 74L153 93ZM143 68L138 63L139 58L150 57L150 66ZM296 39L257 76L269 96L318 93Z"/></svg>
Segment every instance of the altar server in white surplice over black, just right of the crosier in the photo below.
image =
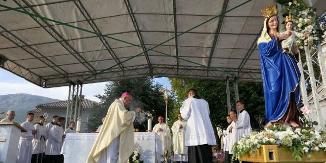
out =
<svg viewBox="0 0 326 163"><path fill-rule="evenodd" d="M65 122L65 118L59 117L58 123L53 125L50 129L45 149L46 163L63 163L63 155L60 154L60 152L64 140L62 125L64 125Z"/></svg>

